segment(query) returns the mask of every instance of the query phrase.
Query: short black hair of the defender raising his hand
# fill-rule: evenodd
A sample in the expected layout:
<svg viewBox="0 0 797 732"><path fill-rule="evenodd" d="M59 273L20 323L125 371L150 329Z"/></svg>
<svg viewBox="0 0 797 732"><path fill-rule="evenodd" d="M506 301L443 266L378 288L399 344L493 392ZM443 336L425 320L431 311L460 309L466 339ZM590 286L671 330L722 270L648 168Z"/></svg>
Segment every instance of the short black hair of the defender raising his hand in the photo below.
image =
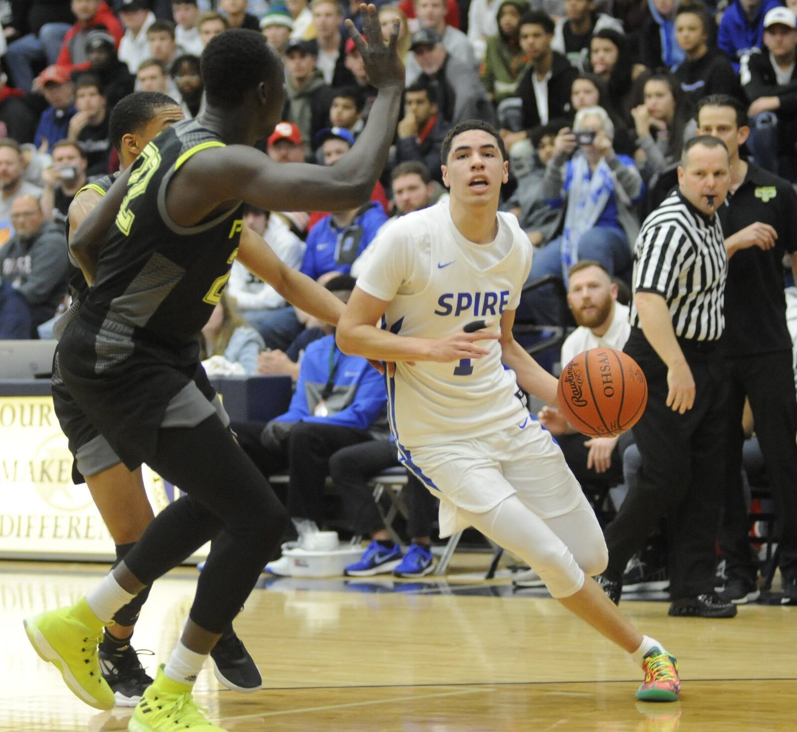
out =
<svg viewBox="0 0 797 732"><path fill-rule="evenodd" d="M281 68L277 53L256 30L230 28L202 51L205 94L215 107L238 107L249 89L279 78Z"/></svg>

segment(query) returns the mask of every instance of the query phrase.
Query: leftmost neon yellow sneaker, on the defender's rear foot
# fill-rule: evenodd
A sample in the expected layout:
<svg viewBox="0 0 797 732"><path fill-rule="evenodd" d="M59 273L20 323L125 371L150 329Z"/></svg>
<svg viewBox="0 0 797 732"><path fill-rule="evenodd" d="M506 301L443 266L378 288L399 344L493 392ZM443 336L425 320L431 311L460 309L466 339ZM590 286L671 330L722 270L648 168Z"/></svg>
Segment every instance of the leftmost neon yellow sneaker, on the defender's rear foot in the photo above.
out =
<svg viewBox="0 0 797 732"><path fill-rule="evenodd" d="M43 612L24 623L37 654L61 671L66 685L78 699L95 709L113 708L113 691L102 677L97 658L104 624L85 597L71 608Z"/></svg>

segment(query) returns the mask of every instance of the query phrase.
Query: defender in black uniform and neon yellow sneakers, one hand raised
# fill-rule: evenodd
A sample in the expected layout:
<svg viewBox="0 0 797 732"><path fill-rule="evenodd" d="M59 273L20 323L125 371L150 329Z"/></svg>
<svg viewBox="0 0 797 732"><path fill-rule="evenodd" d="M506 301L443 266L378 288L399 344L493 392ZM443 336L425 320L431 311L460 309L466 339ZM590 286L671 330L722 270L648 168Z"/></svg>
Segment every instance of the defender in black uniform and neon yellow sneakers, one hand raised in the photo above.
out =
<svg viewBox="0 0 797 732"><path fill-rule="evenodd" d="M172 730L207 722L190 692L202 663L239 612L277 549L287 514L193 377L197 336L238 255L282 293L336 323L340 301L241 237L241 201L268 210L340 211L366 202L382 171L403 86L398 24L385 43L374 6L361 6L363 37L350 32L379 96L366 128L336 165L277 164L250 147L280 119L281 61L247 30L214 37L202 54L206 112L167 130L143 151L85 219L70 250L93 281L61 340L64 382L129 469L147 462L186 496L151 522L112 573L72 608L26 623L40 655L94 706L112 704L97 680L93 643L112 616L206 541L183 637L135 709L128 729ZM110 232L108 237L104 236ZM262 242L261 242L262 244Z"/></svg>

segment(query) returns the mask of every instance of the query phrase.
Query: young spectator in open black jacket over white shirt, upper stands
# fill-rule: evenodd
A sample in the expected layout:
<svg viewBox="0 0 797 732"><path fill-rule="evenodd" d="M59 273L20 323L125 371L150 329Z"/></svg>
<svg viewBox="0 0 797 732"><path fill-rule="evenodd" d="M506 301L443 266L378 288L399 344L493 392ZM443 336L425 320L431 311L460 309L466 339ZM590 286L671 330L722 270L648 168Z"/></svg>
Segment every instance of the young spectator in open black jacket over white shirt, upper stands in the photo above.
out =
<svg viewBox="0 0 797 732"><path fill-rule="evenodd" d="M570 88L578 71L551 49L553 30L552 19L541 11L520 18L520 48L531 59L517 85L517 96L523 101L524 130L563 117L570 104ZM527 132L517 134L528 136Z"/></svg>

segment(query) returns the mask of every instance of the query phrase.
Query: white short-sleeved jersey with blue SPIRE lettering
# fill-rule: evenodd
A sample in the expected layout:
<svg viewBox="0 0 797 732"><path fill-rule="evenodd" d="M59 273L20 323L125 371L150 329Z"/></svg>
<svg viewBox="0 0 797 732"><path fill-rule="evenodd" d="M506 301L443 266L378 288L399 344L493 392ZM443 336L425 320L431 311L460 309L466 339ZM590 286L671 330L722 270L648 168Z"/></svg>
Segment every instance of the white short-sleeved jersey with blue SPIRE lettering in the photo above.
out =
<svg viewBox="0 0 797 732"><path fill-rule="evenodd" d="M454 226L449 204L402 216L373 244L357 285L389 301L382 327L402 336L442 338L477 320L516 309L532 266L532 245L511 214L498 214L489 244L469 242ZM488 435L528 419L515 373L501 364L501 345L458 363L396 364L387 380L388 409L399 451Z"/></svg>

